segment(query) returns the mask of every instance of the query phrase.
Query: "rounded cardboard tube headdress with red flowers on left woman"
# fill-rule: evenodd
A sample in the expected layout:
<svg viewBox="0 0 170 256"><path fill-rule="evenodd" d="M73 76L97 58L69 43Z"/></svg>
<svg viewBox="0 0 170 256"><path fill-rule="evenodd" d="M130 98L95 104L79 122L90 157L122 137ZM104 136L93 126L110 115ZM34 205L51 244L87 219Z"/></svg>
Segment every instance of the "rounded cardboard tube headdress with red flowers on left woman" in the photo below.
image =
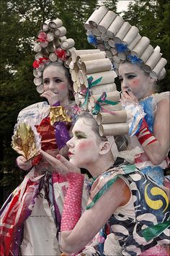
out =
<svg viewBox="0 0 170 256"><path fill-rule="evenodd" d="M37 92L43 93L42 72L45 65L52 61L58 61L69 67L71 52L75 42L72 38L66 38L66 27L60 19L47 21L42 25L42 30L37 35L34 51L35 61L33 63L34 83Z"/></svg>

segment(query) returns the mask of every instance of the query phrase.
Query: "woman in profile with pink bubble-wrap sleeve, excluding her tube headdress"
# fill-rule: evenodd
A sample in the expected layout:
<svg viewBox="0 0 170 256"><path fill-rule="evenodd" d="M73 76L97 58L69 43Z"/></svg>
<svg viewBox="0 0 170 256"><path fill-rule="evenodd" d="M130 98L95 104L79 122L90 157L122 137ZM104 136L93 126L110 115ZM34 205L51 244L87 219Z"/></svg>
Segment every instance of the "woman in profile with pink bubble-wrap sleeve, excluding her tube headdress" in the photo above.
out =
<svg viewBox="0 0 170 256"><path fill-rule="evenodd" d="M115 159L115 151L107 137L99 135L99 125L89 112L79 114L72 132L67 142L70 161L41 151L69 181L61 220L63 255L81 252L105 223L119 241L122 255L169 255L169 199L164 189L134 165ZM94 178L82 215L81 167ZM109 255L117 254L113 250Z"/></svg>

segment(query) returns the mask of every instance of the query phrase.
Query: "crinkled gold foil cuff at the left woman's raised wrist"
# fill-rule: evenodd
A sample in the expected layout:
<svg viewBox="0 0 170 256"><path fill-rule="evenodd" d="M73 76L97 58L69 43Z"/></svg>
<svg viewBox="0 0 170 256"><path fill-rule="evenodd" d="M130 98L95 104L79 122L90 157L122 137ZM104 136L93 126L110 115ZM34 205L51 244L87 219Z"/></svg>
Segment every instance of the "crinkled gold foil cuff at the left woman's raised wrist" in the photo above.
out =
<svg viewBox="0 0 170 256"><path fill-rule="evenodd" d="M50 124L55 124L56 121L71 122L70 116L66 114L66 109L63 106L53 106L50 108Z"/></svg>

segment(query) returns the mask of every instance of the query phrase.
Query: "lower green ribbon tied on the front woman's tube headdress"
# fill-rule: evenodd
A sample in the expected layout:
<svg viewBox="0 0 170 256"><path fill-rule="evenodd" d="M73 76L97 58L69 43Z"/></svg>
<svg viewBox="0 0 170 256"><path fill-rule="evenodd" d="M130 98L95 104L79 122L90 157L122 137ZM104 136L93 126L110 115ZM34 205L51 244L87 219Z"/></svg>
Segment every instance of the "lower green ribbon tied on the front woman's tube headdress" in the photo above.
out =
<svg viewBox="0 0 170 256"><path fill-rule="evenodd" d="M101 103L107 103L107 104L112 105L112 106L115 106L115 105L118 104L118 102L108 101L106 98L107 98L107 93L105 93L105 92L102 93L102 95L99 97L99 99L95 103L94 110L92 111L93 115L97 115L101 109L102 109L102 111L107 112L109 114L117 114L114 111L107 111L101 106Z"/></svg>

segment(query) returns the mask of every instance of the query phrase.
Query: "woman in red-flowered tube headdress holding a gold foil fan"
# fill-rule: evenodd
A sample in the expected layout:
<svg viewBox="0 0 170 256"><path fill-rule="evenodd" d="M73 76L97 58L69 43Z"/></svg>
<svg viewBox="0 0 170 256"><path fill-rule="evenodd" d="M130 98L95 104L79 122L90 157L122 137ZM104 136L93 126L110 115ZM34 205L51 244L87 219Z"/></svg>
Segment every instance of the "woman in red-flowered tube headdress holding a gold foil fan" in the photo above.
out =
<svg viewBox="0 0 170 256"><path fill-rule="evenodd" d="M39 151L42 148L50 155L60 152L68 157L66 142L70 139L75 106L68 65L75 48L59 19L45 22L37 37L34 83L48 102L28 106L18 115L12 148L21 154L17 158L19 168L29 172L3 205L1 255L61 254L58 231L68 182L65 176L53 174Z"/></svg>

